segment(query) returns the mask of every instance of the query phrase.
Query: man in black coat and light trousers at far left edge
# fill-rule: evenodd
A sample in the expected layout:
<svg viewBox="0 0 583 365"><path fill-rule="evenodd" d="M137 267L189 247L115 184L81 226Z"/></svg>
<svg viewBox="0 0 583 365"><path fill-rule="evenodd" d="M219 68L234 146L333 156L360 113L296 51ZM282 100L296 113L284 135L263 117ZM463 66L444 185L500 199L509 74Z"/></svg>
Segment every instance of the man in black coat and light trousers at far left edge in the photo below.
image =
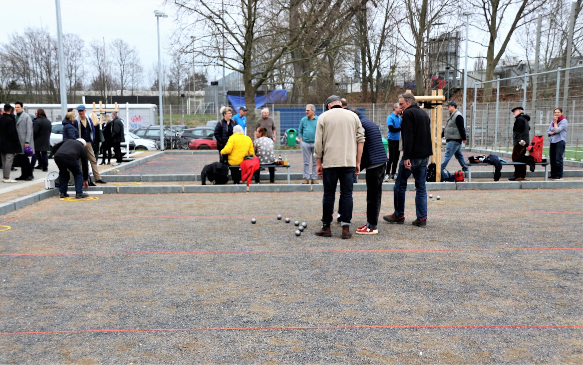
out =
<svg viewBox="0 0 583 365"><path fill-rule="evenodd" d="M17 153L22 153L22 146L16 130L16 117L12 114L12 106L4 105L4 113L0 116L0 154L2 156L2 181L16 183L10 178L10 169Z"/></svg>

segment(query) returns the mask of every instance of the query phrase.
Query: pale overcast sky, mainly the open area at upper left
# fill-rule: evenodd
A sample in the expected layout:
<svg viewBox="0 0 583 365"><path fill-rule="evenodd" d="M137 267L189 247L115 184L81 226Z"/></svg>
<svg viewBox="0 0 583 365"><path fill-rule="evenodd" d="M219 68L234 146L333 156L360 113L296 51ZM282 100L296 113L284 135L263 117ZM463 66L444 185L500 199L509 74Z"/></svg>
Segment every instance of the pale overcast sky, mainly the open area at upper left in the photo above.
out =
<svg viewBox="0 0 583 365"><path fill-rule="evenodd" d="M22 33L28 26L48 27L51 34L57 34L57 22L54 0L19 0L15 6L21 11L18 15L2 17L0 34L3 40L13 32ZM157 61L156 17L154 10L163 10L167 18L160 20L160 40L162 57L168 59L167 50L170 36L175 28L173 7L163 6L162 0L61 0L62 26L64 33L76 33L85 40L85 50L93 39L106 43L115 38L122 38L138 49L142 66L147 72ZM465 36L465 27L460 29ZM484 34L470 28L470 39L484 38ZM510 47L509 47L510 48ZM463 42L461 54L463 56ZM470 43L468 54L475 57L486 55L485 48ZM474 60L468 62L468 69L473 69ZM463 68L463 58L460 59ZM216 69L217 74L222 73ZM229 73L227 71L227 73ZM215 71L208 70L209 80L215 78ZM222 75L217 75L220 78Z"/></svg>

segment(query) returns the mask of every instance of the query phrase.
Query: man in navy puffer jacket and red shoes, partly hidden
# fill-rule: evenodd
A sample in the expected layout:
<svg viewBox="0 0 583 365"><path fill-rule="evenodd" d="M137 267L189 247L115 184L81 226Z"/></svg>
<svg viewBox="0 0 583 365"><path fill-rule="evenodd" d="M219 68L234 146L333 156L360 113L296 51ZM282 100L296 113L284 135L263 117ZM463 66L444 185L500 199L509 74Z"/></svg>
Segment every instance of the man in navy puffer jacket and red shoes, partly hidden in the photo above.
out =
<svg viewBox="0 0 583 365"><path fill-rule="evenodd" d="M387 169L387 153L382 144L381 130L376 124L351 108L359 116L364 129L363 156L360 159L360 171L366 169L366 218L367 223L356 229L357 234L377 234L378 215L381 211L382 178Z"/></svg>

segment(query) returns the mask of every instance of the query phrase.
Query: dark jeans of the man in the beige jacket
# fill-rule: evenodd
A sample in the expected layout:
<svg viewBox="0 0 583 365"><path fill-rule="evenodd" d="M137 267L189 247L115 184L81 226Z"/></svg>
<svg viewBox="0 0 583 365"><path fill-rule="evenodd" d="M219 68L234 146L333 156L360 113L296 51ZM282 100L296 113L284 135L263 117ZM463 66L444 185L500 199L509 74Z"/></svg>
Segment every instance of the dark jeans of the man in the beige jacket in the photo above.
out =
<svg viewBox="0 0 583 365"><path fill-rule="evenodd" d="M354 167L329 167L324 169L322 183L324 183L324 198L322 198L322 224L332 223L334 213L334 199L336 198L336 184L340 180L340 201L338 212L343 226L350 226L352 219L352 187Z"/></svg>

